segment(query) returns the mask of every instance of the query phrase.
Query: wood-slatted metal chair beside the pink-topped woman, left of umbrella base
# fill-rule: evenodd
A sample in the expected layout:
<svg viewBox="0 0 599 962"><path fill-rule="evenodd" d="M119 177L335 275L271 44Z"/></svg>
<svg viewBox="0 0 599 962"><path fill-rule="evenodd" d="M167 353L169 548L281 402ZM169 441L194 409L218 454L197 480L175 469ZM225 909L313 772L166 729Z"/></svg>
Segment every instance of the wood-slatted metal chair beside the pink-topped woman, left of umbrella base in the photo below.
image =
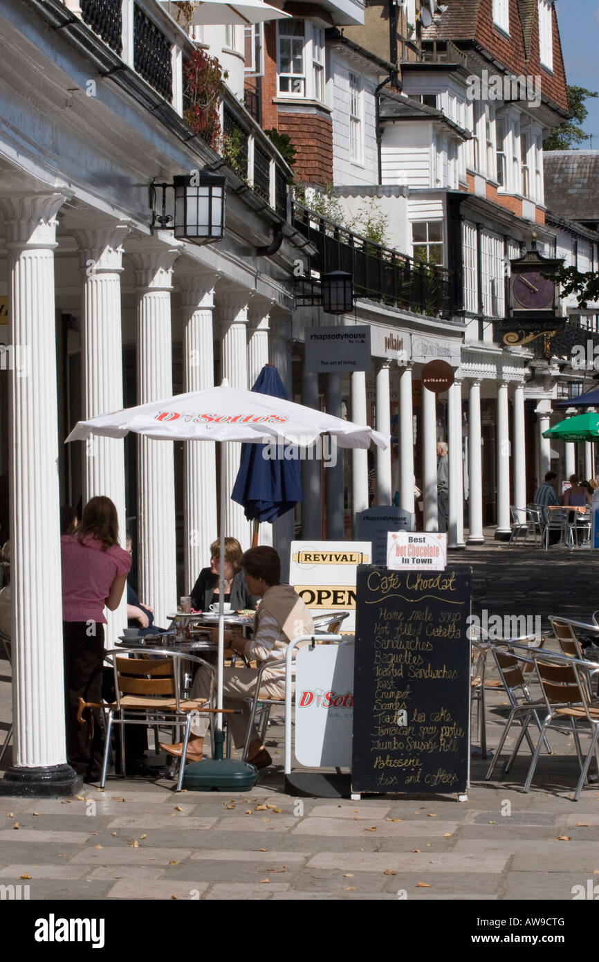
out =
<svg viewBox="0 0 599 962"><path fill-rule="evenodd" d="M146 655L162 655L162 658L154 660L144 657ZM116 699L107 706L108 722L100 787L104 788L106 784L112 725L118 725L121 774L124 777L124 725L155 725L157 719L160 719L161 725L171 726L174 730L184 727L183 750L177 781L177 792L180 792L183 785L184 759L187 753L191 713L213 712L210 706L214 688L214 668L197 655L165 648L145 648L142 657L139 657L138 648L112 648L105 653L105 658L112 664L114 671ZM205 665L211 671L210 698L185 698L182 696L182 670L183 663L187 661Z"/></svg>

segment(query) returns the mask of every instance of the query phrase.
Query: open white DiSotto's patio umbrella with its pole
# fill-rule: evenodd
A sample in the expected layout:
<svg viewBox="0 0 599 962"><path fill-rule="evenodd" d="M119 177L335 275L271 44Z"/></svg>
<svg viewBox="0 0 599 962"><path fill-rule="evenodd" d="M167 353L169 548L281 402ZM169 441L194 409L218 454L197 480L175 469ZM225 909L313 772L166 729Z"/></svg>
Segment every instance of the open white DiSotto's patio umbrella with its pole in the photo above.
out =
<svg viewBox="0 0 599 962"><path fill-rule="evenodd" d="M78 421L66 441L86 441L94 435L124 438L133 431L155 441L220 441L291 443L310 447L321 434L330 434L339 447L368 447L373 441L386 448L387 435L352 421L323 414L303 404L251 391L237 391L223 381L219 388L176 394L162 401L151 401L113 414ZM220 470L220 573L218 603L218 664L216 709L223 707L224 661L224 570L225 570L225 444L221 444ZM221 733L222 715L216 715L216 731ZM216 755L218 757L218 755ZM202 765L202 762L197 763Z"/></svg>

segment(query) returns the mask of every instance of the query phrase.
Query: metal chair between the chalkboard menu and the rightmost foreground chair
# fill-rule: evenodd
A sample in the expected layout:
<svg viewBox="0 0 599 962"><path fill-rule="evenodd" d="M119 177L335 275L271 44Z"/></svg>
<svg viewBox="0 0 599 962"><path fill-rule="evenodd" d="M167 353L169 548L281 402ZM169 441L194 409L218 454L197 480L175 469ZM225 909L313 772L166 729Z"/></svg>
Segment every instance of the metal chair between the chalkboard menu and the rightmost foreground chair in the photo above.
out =
<svg viewBox="0 0 599 962"><path fill-rule="evenodd" d="M519 639L518 641L524 643L527 641L527 639L523 638ZM506 649L502 647L502 645L508 646L508 648ZM540 732L542 729L542 724L537 712L538 710L542 711L544 707L544 702L542 700L535 700L531 695L527 685L527 680L524 676L523 668L526 665L534 667L534 661L524 657L524 655L515 654L514 649L512 648L512 650L510 650L509 648L509 641L497 644L489 643L489 646L495 660L495 665L497 666L497 671L499 671L499 677L501 678L504 691L510 699L512 708L502 732L499 745L495 749L493 760L488 768L487 775L485 776L487 781L491 778L495 770L495 766L499 760L499 756L501 755L502 748L505 745L513 722L519 722L522 731L516 742L516 745L512 749L510 758L504 765L502 774L506 774L512 768L513 759L517 754L523 737L526 738L528 746L531 749L531 752L534 754L535 745L533 744L533 740L528 732L528 722L532 717L535 720L537 728ZM547 751L551 753L551 747L549 746L549 742L544 735L542 736L542 741L544 742Z"/></svg>

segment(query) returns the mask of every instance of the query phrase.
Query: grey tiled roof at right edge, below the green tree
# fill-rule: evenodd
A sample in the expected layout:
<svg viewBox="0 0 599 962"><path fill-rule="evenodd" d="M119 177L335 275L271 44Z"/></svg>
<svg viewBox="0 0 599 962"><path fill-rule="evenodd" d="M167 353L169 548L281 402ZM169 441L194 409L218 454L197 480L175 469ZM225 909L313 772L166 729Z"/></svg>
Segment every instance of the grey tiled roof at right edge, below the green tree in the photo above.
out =
<svg viewBox="0 0 599 962"><path fill-rule="evenodd" d="M543 154L545 206L569 220L599 221L599 150Z"/></svg>

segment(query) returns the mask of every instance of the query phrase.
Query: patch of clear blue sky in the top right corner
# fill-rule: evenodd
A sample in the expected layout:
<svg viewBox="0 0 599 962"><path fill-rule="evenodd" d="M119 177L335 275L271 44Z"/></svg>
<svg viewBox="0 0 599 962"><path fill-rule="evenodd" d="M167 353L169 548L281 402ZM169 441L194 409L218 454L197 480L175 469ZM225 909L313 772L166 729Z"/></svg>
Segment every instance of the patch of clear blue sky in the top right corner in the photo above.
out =
<svg viewBox="0 0 599 962"><path fill-rule="evenodd" d="M557 0L556 11L568 84L599 90L599 0ZM583 128L599 150L599 99L587 100L587 110ZM588 149L589 141L580 147Z"/></svg>

